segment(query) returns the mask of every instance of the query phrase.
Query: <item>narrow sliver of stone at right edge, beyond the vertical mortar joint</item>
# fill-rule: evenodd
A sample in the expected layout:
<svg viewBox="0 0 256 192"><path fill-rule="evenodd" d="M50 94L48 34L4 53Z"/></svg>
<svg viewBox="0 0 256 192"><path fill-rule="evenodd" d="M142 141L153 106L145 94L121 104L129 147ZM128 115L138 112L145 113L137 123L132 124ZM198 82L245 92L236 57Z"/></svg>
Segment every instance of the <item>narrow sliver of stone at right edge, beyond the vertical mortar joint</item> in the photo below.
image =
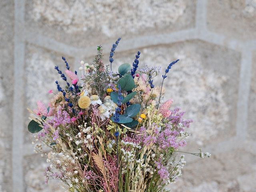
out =
<svg viewBox="0 0 256 192"><path fill-rule="evenodd" d="M253 140L256 138L256 52L252 58L252 81L248 105L248 136Z"/></svg>

